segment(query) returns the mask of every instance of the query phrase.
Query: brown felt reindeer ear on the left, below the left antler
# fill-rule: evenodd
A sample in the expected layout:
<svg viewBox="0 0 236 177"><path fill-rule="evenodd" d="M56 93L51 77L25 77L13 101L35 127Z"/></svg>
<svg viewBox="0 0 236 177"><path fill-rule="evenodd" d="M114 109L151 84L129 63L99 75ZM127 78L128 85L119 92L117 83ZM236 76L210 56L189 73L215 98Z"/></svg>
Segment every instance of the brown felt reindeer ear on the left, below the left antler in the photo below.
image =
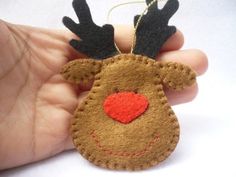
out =
<svg viewBox="0 0 236 177"><path fill-rule="evenodd" d="M102 63L93 59L73 60L63 66L61 75L69 82L80 84L87 83L100 72Z"/></svg>

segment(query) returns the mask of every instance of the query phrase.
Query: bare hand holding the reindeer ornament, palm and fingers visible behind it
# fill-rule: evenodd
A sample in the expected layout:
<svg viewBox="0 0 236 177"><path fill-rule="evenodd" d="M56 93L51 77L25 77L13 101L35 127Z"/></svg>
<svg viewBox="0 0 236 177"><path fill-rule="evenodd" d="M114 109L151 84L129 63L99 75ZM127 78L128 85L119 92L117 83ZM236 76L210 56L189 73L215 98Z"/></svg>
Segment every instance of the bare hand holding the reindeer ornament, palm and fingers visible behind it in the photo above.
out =
<svg viewBox="0 0 236 177"><path fill-rule="evenodd" d="M116 28L122 51L131 47L132 27ZM46 30L0 21L0 169L38 161L73 149L70 120L83 91L59 75L69 60L81 58L68 41L69 31ZM191 66L198 74L207 68L198 50L177 51L183 36L177 32L164 45L159 59ZM192 100L197 86L183 92L166 92L170 103Z"/></svg>

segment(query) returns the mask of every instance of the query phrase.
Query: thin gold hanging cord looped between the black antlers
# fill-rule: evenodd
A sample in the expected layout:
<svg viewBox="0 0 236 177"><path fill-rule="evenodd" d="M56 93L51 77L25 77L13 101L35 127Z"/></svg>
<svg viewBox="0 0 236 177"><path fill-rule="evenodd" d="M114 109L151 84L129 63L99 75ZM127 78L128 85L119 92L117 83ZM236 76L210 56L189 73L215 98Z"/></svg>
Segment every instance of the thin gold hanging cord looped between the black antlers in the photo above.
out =
<svg viewBox="0 0 236 177"><path fill-rule="evenodd" d="M133 41L132 41L130 53L133 53L134 46L135 46L135 44L136 44L136 31L137 31L137 29L138 29L138 26L139 26L141 20L142 20L142 17L145 15L145 13L147 12L147 10L148 10L155 2L157 2L157 1L160 2L160 1L164 1L164 0L153 0L153 1L151 1L151 2L147 5L147 7L144 9L144 11L142 12L142 14L140 15L140 17L139 17L139 19L138 19L138 21L137 21L137 23L136 23L136 25L135 25L135 27L134 27ZM145 3L145 1L131 1L131 2L121 3L121 4L117 4L117 5L113 6L113 7L109 10L109 12L108 12L108 15L107 15L107 23L110 23L110 16L111 16L111 13L112 13L112 11L113 11L114 9L116 9L117 7L124 6L124 5L130 5L130 4L139 4L139 3ZM114 43L114 44L115 44L115 47L116 47L117 51L118 51L119 53L122 53L122 52L120 51L119 47L117 46L117 44L116 44L116 43Z"/></svg>

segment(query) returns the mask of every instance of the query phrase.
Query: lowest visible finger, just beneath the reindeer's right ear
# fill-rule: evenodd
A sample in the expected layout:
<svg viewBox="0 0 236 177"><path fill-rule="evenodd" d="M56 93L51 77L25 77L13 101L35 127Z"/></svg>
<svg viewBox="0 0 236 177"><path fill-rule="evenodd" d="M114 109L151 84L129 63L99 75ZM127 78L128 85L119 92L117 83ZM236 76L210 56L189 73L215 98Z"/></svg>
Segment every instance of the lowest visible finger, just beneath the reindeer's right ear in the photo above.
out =
<svg viewBox="0 0 236 177"><path fill-rule="evenodd" d="M170 105L183 104L192 101L198 93L198 85L194 84L182 91L173 91L170 89L165 89L165 94L167 96Z"/></svg>

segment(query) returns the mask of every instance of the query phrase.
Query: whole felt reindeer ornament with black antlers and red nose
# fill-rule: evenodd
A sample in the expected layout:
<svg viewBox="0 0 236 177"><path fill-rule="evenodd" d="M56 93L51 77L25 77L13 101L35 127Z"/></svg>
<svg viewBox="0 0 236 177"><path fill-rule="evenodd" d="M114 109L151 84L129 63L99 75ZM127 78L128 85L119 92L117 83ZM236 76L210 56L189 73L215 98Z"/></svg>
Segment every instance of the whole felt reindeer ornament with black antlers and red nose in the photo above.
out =
<svg viewBox="0 0 236 177"><path fill-rule="evenodd" d="M61 74L75 84L94 80L75 110L72 139L86 159L109 169L145 169L171 154L179 140L179 124L163 87L182 90L196 80L188 66L155 60L176 32L168 21L178 1L168 0L162 9L157 1L146 3L147 13L134 18L137 28L130 54L119 53L112 25L99 27L93 22L85 0L73 1L79 24L63 18L80 38L72 39L71 46L89 58L67 63Z"/></svg>

